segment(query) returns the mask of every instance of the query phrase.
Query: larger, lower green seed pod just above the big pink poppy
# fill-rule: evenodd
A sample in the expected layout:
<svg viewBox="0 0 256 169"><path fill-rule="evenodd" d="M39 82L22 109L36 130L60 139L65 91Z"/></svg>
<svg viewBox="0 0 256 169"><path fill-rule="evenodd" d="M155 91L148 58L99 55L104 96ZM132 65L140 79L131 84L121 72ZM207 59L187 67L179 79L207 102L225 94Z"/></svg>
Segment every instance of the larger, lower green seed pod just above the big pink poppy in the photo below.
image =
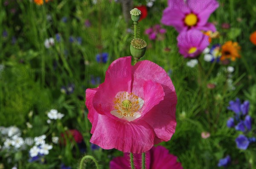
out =
<svg viewBox="0 0 256 169"><path fill-rule="evenodd" d="M136 38L131 40L130 51L134 59L140 59L146 52L147 43L145 40Z"/></svg>

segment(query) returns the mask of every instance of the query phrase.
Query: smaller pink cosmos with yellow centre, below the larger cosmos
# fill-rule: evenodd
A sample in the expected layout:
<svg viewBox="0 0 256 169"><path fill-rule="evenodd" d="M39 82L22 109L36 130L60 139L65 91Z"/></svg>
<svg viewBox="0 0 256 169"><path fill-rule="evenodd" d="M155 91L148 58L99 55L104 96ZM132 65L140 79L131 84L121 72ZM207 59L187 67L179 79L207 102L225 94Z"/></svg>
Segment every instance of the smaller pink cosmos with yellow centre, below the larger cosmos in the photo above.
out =
<svg viewBox="0 0 256 169"><path fill-rule="evenodd" d="M177 37L179 52L185 58L195 58L209 45L208 36L196 29L182 32Z"/></svg>

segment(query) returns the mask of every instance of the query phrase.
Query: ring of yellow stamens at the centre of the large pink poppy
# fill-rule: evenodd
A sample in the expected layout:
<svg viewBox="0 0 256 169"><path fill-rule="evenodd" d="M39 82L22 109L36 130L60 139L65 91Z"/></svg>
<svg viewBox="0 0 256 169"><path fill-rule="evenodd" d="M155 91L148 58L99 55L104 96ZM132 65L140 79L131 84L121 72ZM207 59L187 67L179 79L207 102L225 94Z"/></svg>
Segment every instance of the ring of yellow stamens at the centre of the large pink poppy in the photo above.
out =
<svg viewBox="0 0 256 169"><path fill-rule="evenodd" d="M123 117L133 117L134 113L140 109L139 103L139 97L128 92L120 92L114 99L115 111Z"/></svg>

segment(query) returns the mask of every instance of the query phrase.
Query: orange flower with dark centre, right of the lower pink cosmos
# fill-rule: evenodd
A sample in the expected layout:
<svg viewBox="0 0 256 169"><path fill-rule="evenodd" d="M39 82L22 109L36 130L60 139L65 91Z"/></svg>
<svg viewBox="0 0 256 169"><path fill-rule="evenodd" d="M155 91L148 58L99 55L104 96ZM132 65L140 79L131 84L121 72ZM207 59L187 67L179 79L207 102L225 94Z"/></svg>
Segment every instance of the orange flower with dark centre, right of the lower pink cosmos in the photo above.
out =
<svg viewBox="0 0 256 169"><path fill-rule="evenodd" d="M237 42L228 41L221 47L221 61L225 59L231 59L235 61L236 58L240 58L239 51L241 47Z"/></svg>

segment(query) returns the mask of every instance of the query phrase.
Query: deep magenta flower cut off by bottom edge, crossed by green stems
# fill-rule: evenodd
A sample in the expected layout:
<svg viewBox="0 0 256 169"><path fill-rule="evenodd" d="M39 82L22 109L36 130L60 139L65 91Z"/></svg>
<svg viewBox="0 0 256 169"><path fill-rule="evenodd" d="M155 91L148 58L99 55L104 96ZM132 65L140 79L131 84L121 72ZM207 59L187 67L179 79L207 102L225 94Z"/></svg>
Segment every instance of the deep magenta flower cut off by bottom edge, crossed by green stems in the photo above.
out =
<svg viewBox="0 0 256 169"><path fill-rule="evenodd" d="M169 150L163 146L153 147L146 152L146 169L183 169L181 163L177 162L177 157L169 154ZM124 157L116 157L110 162L110 169L131 169L129 153ZM134 154L134 166L141 169L141 154Z"/></svg>

